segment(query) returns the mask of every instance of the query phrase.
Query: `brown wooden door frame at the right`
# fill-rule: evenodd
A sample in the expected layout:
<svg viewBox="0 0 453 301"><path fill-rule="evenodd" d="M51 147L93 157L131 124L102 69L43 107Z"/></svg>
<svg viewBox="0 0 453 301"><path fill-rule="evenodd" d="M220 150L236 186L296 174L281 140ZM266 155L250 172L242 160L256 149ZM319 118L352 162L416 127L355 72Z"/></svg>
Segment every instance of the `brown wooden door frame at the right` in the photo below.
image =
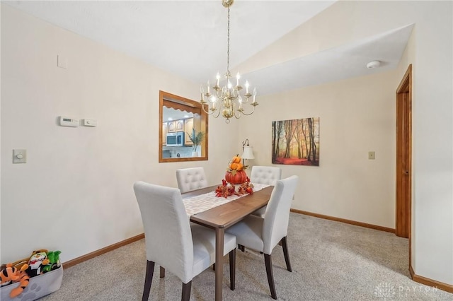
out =
<svg viewBox="0 0 453 301"><path fill-rule="evenodd" d="M412 212L412 64L396 88L396 223L395 234L409 239Z"/></svg>

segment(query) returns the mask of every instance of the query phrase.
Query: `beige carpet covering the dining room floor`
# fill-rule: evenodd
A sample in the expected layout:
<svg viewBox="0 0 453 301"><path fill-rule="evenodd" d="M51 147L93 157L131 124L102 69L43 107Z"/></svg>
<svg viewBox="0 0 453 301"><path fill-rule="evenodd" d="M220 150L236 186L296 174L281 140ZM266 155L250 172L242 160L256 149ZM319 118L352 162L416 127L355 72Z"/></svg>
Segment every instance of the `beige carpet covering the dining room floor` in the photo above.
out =
<svg viewBox="0 0 453 301"><path fill-rule="evenodd" d="M453 294L411 281L408 240L388 232L291 213L288 230L293 272L280 246L273 250L278 300L453 300ZM236 251L236 290L229 290L228 256L224 300L272 300L263 255ZM142 300L144 240L64 270L62 287L42 301ZM154 280L149 300L180 300L181 283L166 273ZM214 271L192 282L190 300L214 300Z"/></svg>

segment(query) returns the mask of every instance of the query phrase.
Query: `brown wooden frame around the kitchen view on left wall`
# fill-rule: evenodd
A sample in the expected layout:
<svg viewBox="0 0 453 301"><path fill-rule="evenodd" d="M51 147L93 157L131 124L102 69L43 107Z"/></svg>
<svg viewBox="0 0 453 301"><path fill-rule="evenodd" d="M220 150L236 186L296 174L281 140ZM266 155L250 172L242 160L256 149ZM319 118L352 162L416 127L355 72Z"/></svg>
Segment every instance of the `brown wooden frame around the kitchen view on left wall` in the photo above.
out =
<svg viewBox="0 0 453 301"><path fill-rule="evenodd" d="M205 132L205 138L201 143L201 156L200 157L189 157L189 158L162 158L162 141L163 141L163 129L164 124L164 107L169 107L175 110L192 112L193 114L200 114L201 128L200 131ZM167 93L159 90L159 163L165 162L184 162L184 161L203 161L208 159L208 118L200 102L183 98L178 95Z"/></svg>

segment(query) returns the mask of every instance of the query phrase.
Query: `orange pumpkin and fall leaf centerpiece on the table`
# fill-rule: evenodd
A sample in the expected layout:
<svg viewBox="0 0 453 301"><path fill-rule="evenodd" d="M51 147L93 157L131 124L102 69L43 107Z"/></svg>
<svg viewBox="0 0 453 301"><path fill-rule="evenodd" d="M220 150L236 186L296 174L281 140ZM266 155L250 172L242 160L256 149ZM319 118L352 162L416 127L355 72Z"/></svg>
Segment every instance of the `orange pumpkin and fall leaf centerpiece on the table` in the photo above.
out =
<svg viewBox="0 0 453 301"><path fill-rule="evenodd" d="M235 155L226 169L225 179L222 179L222 185L215 189L216 196L223 196L224 198L236 195L241 196L243 194L253 194L253 184L247 177L244 171L247 166L241 164L241 157ZM236 187L235 185L239 185Z"/></svg>

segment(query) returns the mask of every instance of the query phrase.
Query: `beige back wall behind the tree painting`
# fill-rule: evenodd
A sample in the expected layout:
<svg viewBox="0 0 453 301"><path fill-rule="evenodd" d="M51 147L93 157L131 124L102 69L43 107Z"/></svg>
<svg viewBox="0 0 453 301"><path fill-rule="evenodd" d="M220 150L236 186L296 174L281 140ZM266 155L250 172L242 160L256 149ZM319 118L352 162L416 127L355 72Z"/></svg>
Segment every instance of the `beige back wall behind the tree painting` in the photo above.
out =
<svg viewBox="0 0 453 301"><path fill-rule="evenodd" d="M394 228L396 81L377 73L260 98L259 112L241 120L251 164L272 164L273 121L320 117L319 167L275 165L299 175L292 208Z"/></svg>

